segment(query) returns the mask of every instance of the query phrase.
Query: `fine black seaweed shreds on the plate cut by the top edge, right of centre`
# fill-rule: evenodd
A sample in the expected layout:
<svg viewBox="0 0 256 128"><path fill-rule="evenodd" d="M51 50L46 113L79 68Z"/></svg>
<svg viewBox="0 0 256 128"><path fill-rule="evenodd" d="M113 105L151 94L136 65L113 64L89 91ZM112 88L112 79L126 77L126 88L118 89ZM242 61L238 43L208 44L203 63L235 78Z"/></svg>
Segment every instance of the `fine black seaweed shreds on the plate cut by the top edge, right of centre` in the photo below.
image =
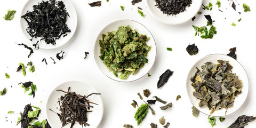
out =
<svg viewBox="0 0 256 128"><path fill-rule="evenodd" d="M191 0L183 1L166 1L166 0L155 0L156 6L167 15L177 15L181 12L186 11L187 7L192 3Z"/></svg>

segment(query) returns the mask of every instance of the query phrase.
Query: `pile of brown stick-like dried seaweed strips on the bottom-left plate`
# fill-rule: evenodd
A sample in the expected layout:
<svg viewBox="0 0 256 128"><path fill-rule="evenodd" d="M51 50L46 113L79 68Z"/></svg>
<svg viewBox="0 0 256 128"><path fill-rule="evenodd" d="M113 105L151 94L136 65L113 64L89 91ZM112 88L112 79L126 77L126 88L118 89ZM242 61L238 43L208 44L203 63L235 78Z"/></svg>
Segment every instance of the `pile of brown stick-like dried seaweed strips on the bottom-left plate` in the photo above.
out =
<svg viewBox="0 0 256 128"><path fill-rule="evenodd" d="M66 93L64 96L61 95L59 98L59 105L60 105L60 111L61 113L57 115L60 117L60 121L62 122L62 126L65 126L69 123L71 123L70 128L72 128L75 125L75 122L78 122L82 126L90 126L90 124L87 124L87 113L92 112L92 110L89 111L90 108L93 108L93 106L90 105L90 103L93 103L89 100L87 100L88 97L90 97L92 94L100 94L100 93L91 93L87 96L76 94L76 92L69 92L70 87L68 88L68 91L63 90L57 90L62 91ZM93 103L95 105L98 105L97 103ZM51 109L50 109L51 110Z"/></svg>

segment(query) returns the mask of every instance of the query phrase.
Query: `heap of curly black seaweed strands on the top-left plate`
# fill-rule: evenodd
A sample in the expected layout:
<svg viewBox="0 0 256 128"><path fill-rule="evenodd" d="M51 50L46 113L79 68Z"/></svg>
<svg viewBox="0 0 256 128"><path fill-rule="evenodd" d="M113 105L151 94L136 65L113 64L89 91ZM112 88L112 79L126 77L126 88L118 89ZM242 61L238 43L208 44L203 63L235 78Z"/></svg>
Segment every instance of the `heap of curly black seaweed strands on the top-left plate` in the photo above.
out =
<svg viewBox="0 0 256 128"><path fill-rule="evenodd" d="M28 23L27 33L33 38L42 37L46 44L55 45L56 39L70 33L66 25L69 14L62 1L42 1L33 6L33 11L27 11L21 18ZM64 36L63 36L64 37Z"/></svg>

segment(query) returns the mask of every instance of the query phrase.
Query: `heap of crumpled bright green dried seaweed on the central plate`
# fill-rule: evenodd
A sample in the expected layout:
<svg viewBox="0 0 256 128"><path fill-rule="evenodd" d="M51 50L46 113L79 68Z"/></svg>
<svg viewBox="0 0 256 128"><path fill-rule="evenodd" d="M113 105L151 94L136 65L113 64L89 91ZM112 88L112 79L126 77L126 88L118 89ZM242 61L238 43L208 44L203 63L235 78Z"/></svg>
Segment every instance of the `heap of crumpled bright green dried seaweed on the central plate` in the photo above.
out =
<svg viewBox="0 0 256 128"><path fill-rule="evenodd" d="M146 57L151 46L146 42L149 39L130 26L119 26L117 31L102 34L102 39L99 40L100 59L116 77L117 73L121 73L119 78L126 79L148 63Z"/></svg>

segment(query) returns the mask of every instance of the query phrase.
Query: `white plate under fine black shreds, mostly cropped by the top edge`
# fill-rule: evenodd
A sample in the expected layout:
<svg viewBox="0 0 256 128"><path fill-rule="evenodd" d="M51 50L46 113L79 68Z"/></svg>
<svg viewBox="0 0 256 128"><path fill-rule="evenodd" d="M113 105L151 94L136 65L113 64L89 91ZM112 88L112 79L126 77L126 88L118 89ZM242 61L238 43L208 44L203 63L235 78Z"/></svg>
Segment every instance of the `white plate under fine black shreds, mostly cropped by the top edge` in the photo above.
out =
<svg viewBox="0 0 256 128"><path fill-rule="evenodd" d="M155 0L147 0L148 9L151 14L158 20L169 25L179 25L191 20L202 6L203 0L193 0L192 4L184 12L177 15L164 14L156 5Z"/></svg>

